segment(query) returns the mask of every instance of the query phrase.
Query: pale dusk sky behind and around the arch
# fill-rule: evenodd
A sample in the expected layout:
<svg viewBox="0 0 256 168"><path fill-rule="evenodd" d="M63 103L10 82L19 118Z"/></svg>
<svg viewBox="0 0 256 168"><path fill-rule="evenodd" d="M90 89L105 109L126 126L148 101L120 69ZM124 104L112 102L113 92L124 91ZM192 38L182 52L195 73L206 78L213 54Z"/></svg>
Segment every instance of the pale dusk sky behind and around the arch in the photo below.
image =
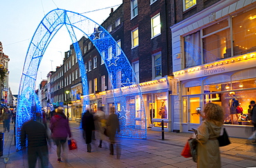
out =
<svg viewBox="0 0 256 168"><path fill-rule="evenodd" d="M89 17L98 24L109 17L111 8L116 10L122 0L0 0L0 41L3 53L10 58L9 86L12 94L18 94L21 73L28 45L44 16L56 8L71 10ZM104 9L105 8L105 9ZM78 33L77 40L82 37ZM46 80L49 71L63 62L64 53L72 44L66 28L62 27L46 49L37 73L37 86Z"/></svg>

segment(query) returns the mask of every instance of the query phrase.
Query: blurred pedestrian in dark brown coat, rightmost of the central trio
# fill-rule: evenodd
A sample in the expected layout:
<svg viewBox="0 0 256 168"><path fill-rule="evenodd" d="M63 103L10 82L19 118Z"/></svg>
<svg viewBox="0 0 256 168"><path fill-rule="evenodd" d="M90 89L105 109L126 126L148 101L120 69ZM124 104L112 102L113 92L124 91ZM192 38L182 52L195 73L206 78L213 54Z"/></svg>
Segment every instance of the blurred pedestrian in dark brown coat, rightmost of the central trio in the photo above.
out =
<svg viewBox="0 0 256 168"><path fill-rule="evenodd" d="M115 113L115 107L111 107L110 109L110 115L109 118L107 119L106 123L107 127L107 135L109 136L109 149L110 149L110 154L113 155L113 144L116 143L116 132L120 132L120 127L119 127L119 120L118 120L118 115Z"/></svg>

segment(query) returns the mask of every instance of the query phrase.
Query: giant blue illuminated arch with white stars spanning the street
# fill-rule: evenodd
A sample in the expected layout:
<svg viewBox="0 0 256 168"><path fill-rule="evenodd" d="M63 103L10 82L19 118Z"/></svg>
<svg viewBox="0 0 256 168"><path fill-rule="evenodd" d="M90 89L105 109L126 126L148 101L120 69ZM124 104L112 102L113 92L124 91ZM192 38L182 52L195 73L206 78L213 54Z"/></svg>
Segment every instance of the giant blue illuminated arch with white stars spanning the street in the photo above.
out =
<svg viewBox="0 0 256 168"><path fill-rule="evenodd" d="M89 105L89 88L84 62L74 28L82 31L84 35L91 40L104 60L104 64L109 73L109 79L111 80L111 94L113 94L114 105L118 107L118 109L116 108L116 113L120 120L119 136L123 138L147 138L143 96L134 70L125 53L109 32L95 21L77 12L55 9L48 12L40 22L30 41L26 54L17 103L16 148L18 150L21 149L20 131L22 124L27 122L30 116L34 115L33 111L31 111L31 106L33 106L35 102L33 102L31 97L33 97L35 93L39 64L51 39L53 39L62 26L66 26L68 30L80 66L82 91L84 95L83 112L86 106ZM109 50L112 50L111 55L109 54Z"/></svg>

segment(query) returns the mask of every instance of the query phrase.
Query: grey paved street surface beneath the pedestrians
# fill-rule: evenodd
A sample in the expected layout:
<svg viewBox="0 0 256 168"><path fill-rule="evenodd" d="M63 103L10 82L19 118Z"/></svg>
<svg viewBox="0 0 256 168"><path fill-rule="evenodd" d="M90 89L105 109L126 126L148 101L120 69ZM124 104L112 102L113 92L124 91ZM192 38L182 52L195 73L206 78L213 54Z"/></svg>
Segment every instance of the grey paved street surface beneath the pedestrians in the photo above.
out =
<svg viewBox="0 0 256 168"><path fill-rule="evenodd" d="M165 132L165 140L159 131L147 131L147 140L120 138L121 157L117 159L109 155L109 143L104 141L98 148L98 140L93 141L92 152L86 152L86 144L82 138L79 123L70 122L73 138L77 141L78 149L62 152L62 160L57 162L56 147L52 144L49 151L49 167L196 167L192 158L183 158L181 151L191 133ZM0 126L2 129L2 126ZM3 156L0 167L28 167L26 151L16 151L13 137L13 124L10 133L4 133ZM0 131L1 131L0 129ZM231 144L221 147L222 167L256 167L256 144L250 140L230 138ZM8 158L7 163L4 158ZM38 167L38 165L37 165Z"/></svg>

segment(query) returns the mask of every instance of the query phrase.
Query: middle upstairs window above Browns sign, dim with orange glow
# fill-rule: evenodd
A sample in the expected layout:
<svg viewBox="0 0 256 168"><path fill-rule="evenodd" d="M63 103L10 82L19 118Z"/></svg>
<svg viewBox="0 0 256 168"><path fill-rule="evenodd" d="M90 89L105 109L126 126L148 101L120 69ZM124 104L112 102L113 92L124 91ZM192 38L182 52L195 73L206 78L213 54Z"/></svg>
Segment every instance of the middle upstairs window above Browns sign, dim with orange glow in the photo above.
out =
<svg viewBox="0 0 256 168"><path fill-rule="evenodd" d="M203 29L203 63L231 57L228 19Z"/></svg>

